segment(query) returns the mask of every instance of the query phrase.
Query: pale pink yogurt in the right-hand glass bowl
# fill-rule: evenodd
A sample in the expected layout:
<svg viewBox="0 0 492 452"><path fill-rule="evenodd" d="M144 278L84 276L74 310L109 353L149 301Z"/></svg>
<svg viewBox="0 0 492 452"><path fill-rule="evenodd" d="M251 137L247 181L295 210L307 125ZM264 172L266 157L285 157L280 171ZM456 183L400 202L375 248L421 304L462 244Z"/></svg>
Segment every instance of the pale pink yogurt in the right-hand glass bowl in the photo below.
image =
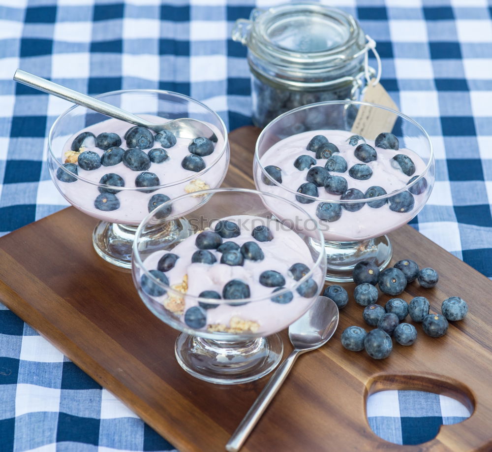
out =
<svg viewBox="0 0 492 452"><path fill-rule="evenodd" d="M306 210L307 213L316 220L318 220L318 217L316 216L316 208L319 204L318 201L301 204L296 200L295 194L290 193L283 188L287 187L296 191L301 184L307 182L306 175L308 169L300 171L294 166L294 161L303 154L315 158L314 152L306 149L309 140L314 135L325 135L340 151L340 153L334 155L339 155L347 161L347 171L344 173L333 171L330 172L330 174L344 177L347 180L348 188L356 188L363 193L365 193L369 187L380 186L390 194L395 190L400 190L413 176L422 174L426 169L426 163L415 152L409 149L399 149L398 151L393 149L382 149L376 147L373 140L366 139L367 144L376 150L377 160L365 163L371 168L372 176L368 180L358 180L352 178L348 174L348 169L350 169L352 165L364 163L358 160L354 155L356 146L350 145L347 141L353 133L345 130L314 130L284 138L265 152L260 159L263 167L276 165L281 168L282 184L280 186L265 184L262 180L261 169L257 166L255 168L256 187L262 192L277 194L289 201L298 203L300 207ZM363 143L363 141L359 141L358 144L361 143ZM412 176L405 175L400 169L396 169L391 165L392 158L397 154L404 154L412 159L416 168L415 173ZM316 166L324 167L326 160L327 159L318 159ZM340 199L340 195L329 194L324 187L318 187L318 193L318 197L326 201ZM325 240L356 241L378 237L408 223L423 207L428 195L429 189L422 194L414 194L415 205L412 210L405 213L390 210L388 203L380 208L372 208L365 204L356 212L350 212L342 208L341 217L337 221L318 221L319 227L323 232ZM295 219L296 224L298 225L297 230L304 232L307 235L310 235L310 231L314 229L313 225L310 224L310 222L307 222L306 218L299 219L298 212L294 211L294 209L290 212L288 210L277 212L275 206L269 205L269 207L275 212L278 218Z"/></svg>

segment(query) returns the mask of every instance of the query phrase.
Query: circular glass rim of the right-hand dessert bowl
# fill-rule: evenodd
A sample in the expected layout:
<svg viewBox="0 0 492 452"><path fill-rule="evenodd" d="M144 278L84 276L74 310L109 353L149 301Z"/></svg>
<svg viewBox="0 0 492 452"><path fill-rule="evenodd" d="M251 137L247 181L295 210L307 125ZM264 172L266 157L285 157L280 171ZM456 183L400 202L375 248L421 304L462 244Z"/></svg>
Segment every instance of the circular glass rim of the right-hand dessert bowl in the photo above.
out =
<svg viewBox="0 0 492 452"><path fill-rule="evenodd" d="M391 193L387 193L387 194L383 194L383 195L379 195L379 196L373 196L371 198L357 198L357 199L329 199L329 198L320 198L318 196L311 196L309 194L299 194L299 192L297 192L296 190L292 190L292 189L286 187L283 184L279 184L272 176L270 176L270 174L268 174L265 171L265 167L262 165L262 163L260 161L260 158L258 156L258 153L259 153L258 143L260 142L260 139L263 137L263 135L266 134L267 129L270 126L273 126L275 123L277 123L277 121L285 118L286 116L288 116L288 115L290 115L292 113L295 113L295 112L298 112L298 111L302 111L302 110L306 110L306 109L313 108L313 107L317 107L317 106L321 106L321 105L337 105L337 104L340 104L340 105L342 105L342 104L345 104L345 105L360 105L360 106L368 106L368 107L381 108L381 109L387 110L387 111L389 111L391 113L395 113L400 118L402 118L402 119L410 122L414 126L416 126L417 129L420 129L421 132L423 133L424 137L427 138L427 142L429 143L429 149L431 151L430 156L429 156L429 161L428 161L426 167L424 168L424 171L422 172L422 174L420 174L414 181L412 181L411 184L407 184L407 185L403 186L402 188L400 188L398 190L394 190ZM301 132L301 133L303 133L303 132ZM294 135L290 135L290 136L294 136ZM401 112L399 112L397 110L394 110L394 109L389 108L389 107L385 107L384 105L378 105L378 104L369 103L369 102L360 102L360 101L357 101L357 100L326 100L324 102L310 103L308 105L303 105L301 107L297 107L297 108L294 108L292 110L286 111L285 113L282 113L280 116L277 116L277 118L275 118L270 123L268 123L265 126L265 128L261 131L261 133L258 135L258 138L256 140L255 150L254 150L254 163L256 163L260 167L262 176L266 176L268 179L270 179L270 181L272 182L270 185L276 185L277 187L281 188L282 190L285 190L285 191L290 192L292 194L295 194L297 196L302 196L302 197L307 198L307 199L312 199L313 201L317 201L317 202L330 202L330 203L342 204L342 205L350 205L350 204L361 203L361 202L368 202L368 201L369 202L373 202L373 201L379 201L379 200L388 200L389 198L391 198L391 197L393 197L393 196L395 196L397 194L400 194L402 192L405 192L409 188L411 188L411 187L415 186L416 184L418 184L422 179L425 178L425 176L429 173L431 167L434 164L434 148L432 146L431 138L430 138L429 134L427 133L427 131L417 121L413 120L409 116L406 116L406 115L404 115L403 113L401 113ZM256 171L253 173L253 177L256 179ZM255 180L255 184L256 184L256 180ZM433 184L431 184L431 185L433 185Z"/></svg>

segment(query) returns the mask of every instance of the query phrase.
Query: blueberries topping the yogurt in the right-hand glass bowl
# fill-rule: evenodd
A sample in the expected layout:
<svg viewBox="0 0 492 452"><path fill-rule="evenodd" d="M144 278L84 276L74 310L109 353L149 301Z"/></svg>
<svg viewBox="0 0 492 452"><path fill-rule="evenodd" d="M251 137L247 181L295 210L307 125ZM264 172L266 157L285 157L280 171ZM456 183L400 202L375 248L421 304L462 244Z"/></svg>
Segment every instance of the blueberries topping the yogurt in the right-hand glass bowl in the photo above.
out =
<svg viewBox="0 0 492 452"><path fill-rule="evenodd" d="M328 138L324 135L315 135L311 138L307 144L307 151L314 153L312 155L300 155L295 161L294 166L299 171L307 170L306 183L301 184L297 189L298 195L296 199L302 204L310 204L315 199L312 197L318 197L319 188L324 187L326 193L338 195L342 200L357 200L357 199L370 199L375 196L382 196L387 194L386 190L380 186L374 185L369 187L365 193L356 188L349 188L346 175L342 176L342 173L348 171L348 176L352 179L367 180L372 176L372 170L369 165L370 161L377 160L376 150L366 143L366 140L360 135L352 135L347 140L351 146L354 146L354 156L362 163L356 163L348 168L347 161L339 154L338 147L330 143ZM380 133L375 139L375 146L382 149L399 149L398 138L392 133ZM318 166L318 160L326 160L324 166ZM407 176L412 176L415 173L415 164L413 161L403 154L397 154L391 160L391 165L402 171ZM278 182L282 183L282 170L275 165L268 165L265 167L265 171L270 177ZM408 182L411 184L419 176L412 177ZM349 179L350 180L350 179ZM274 185L270 178L263 176L263 182L267 185ZM390 210L394 212L409 212L415 205L414 194L422 194L427 189L427 180L425 178L420 179L417 183L413 184L408 190L395 194L385 199L379 199L375 201L366 201L368 206L373 209L378 209L389 204ZM308 197L312 196L312 197ZM328 222L337 221L342 214L342 209L349 212L356 212L366 204L366 202L353 202L338 204L333 202L320 202L316 208L316 216L320 220Z"/></svg>

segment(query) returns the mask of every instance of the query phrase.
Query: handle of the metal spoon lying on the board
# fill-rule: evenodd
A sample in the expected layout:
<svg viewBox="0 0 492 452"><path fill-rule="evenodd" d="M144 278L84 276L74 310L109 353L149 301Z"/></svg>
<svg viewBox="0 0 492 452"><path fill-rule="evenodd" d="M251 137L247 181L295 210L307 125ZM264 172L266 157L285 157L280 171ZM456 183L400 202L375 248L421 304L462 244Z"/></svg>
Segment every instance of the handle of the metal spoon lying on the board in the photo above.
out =
<svg viewBox="0 0 492 452"><path fill-rule="evenodd" d="M257 399L251 405L251 408L246 413L241 423L236 428L236 431L232 434L231 438L225 445L226 451L238 452L246 441L247 437L253 430L254 426L261 418L261 415L265 412L268 405L277 394L278 389L287 378L294 362L296 362L297 356L302 350L294 349L289 356L277 367L266 386L258 395Z"/></svg>

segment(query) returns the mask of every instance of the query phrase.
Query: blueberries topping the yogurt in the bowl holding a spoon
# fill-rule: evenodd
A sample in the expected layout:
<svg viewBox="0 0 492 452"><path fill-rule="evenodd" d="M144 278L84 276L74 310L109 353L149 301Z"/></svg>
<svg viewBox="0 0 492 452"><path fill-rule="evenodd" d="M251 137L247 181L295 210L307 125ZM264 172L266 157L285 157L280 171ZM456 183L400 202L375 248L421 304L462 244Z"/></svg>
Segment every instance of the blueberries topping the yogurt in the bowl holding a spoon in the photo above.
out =
<svg viewBox="0 0 492 452"><path fill-rule="evenodd" d="M100 133L95 136L92 132L82 132L73 140L71 150L80 152L94 143L95 147L101 149L102 156L94 151L80 152L77 163L78 166L86 171L92 171L100 166L115 166L123 163L124 166L133 171L143 171L135 178L135 187L157 187L160 185L159 177L147 171L152 163L162 163L169 160L169 154L164 149L172 148L176 144L176 136L163 130L155 136L151 130L134 126L128 129L123 139L126 141L128 149L121 148L122 138L117 133ZM157 141L162 147L154 148ZM151 149L152 148L152 149ZM144 150L150 149L148 152ZM189 154L184 157L181 166L189 171L199 172L205 169L205 162L202 157L214 152L214 142L208 138L198 137L191 140L188 145ZM64 163L63 168L58 168L57 178L62 182L75 182L77 179L70 173L78 174L77 165L74 163ZM120 208L118 194L121 190L115 187L124 187L123 178L116 173L107 173L101 177L99 184L109 187L99 186L100 194L94 200L94 207L102 211L112 211ZM155 189L142 190L142 193L152 193ZM149 212L158 205L168 201L169 197L163 194L155 194L149 201Z"/></svg>

